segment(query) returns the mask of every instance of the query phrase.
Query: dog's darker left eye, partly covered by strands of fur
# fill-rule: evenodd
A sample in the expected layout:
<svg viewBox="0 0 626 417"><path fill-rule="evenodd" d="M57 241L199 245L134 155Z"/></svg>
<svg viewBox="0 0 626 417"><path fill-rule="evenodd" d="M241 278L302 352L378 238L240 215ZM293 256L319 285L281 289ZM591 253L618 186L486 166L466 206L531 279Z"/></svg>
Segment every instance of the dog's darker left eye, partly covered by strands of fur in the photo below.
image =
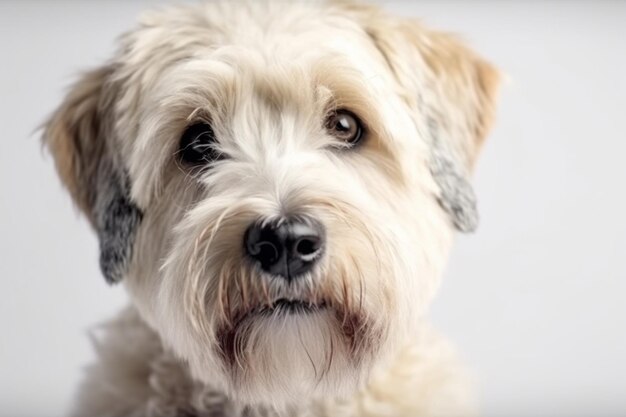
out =
<svg viewBox="0 0 626 417"><path fill-rule="evenodd" d="M180 138L178 154L183 162L193 165L221 159L221 154L215 148L215 133L204 122L187 127Z"/></svg>

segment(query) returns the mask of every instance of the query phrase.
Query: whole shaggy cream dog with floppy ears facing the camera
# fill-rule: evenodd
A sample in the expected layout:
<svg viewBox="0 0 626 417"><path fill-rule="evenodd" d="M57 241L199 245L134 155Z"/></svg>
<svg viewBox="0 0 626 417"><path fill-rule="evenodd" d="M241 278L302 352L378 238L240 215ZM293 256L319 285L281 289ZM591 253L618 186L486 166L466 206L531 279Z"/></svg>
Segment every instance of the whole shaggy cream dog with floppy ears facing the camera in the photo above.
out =
<svg viewBox="0 0 626 417"><path fill-rule="evenodd" d="M426 312L498 84L351 1L142 15L42 135L131 299L73 415L472 415Z"/></svg>

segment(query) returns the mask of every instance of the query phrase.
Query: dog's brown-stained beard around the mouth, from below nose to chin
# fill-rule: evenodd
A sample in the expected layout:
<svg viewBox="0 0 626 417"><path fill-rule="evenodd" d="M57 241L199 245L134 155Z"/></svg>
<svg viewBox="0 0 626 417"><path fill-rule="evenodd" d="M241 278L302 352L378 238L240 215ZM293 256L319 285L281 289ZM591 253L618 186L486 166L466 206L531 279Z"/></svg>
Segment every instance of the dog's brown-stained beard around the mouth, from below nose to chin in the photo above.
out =
<svg viewBox="0 0 626 417"><path fill-rule="evenodd" d="M249 399L284 395L293 401L314 391L354 390L380 337L363 303L349 299L354 293L306 283L288 288L282 278L256 271L244 276L226 285L214 326L216 350L233 391Z"/></svg>

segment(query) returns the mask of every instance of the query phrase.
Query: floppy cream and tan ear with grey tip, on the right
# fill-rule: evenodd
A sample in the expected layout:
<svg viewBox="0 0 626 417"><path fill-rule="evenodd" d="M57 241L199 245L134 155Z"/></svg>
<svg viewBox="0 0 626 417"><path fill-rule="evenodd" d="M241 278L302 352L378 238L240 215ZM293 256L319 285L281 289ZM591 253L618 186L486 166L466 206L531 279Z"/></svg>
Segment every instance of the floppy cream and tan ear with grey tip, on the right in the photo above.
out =
<svg viewBox="0 0 626 417"><path fill-rule="evenodd" d="M429 142L436 198L463 232L478 224L470 174L492 125L499 73L454 36L351 4Z"/></svg>

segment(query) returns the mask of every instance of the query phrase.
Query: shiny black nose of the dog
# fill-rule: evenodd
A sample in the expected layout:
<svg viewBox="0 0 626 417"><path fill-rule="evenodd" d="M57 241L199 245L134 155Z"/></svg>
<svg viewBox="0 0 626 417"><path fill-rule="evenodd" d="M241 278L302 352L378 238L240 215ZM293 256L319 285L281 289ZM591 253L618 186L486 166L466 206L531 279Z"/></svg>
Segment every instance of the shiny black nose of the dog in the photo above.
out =
<svg viewBox="0 0 626 417"><path fill-rule="evenodd" d="M243 244L261 269L291 281L321 257L324 230L312 220L255 223L246 230Z"/></svg>

